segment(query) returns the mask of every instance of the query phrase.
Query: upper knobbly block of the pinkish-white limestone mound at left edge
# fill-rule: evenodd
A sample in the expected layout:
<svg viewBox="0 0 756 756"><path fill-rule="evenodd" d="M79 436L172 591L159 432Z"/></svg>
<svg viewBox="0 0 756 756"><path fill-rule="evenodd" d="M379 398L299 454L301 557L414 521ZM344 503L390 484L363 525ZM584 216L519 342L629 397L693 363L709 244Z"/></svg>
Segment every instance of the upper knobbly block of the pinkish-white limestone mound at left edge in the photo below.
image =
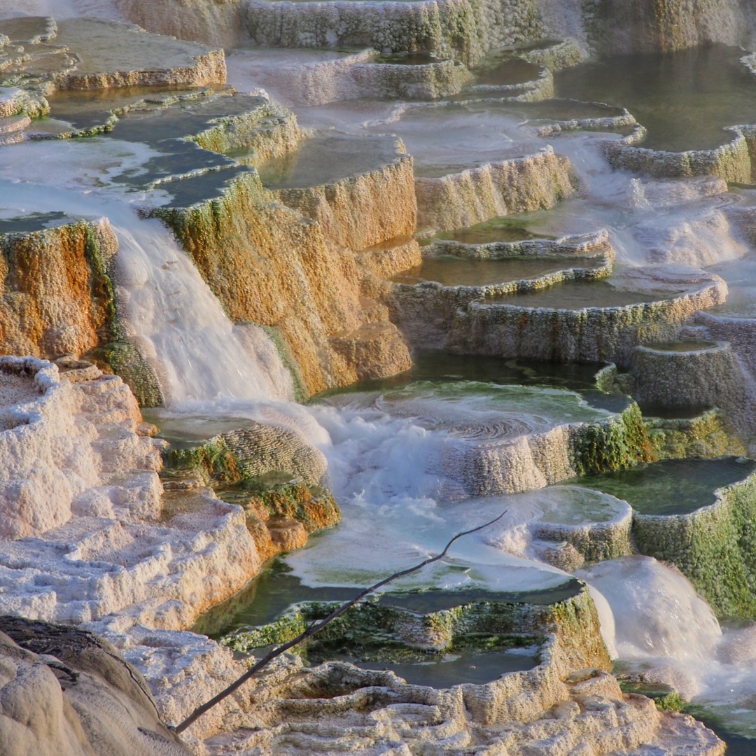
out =
<svg viewBox="0 0 756 756"><path fill-rule="evenodd" d="M118 504L127 517L156 516L160 451L136 435L139 410L119 378L98 375L74 385L47 361L13 357L0 358L0 373L7 401L0 434L3 538L41 536L75 514L112 515ZM97 403L107 414L95 424L87 413ZM132 490L110 482L114 455L143 471Z"/></svg>

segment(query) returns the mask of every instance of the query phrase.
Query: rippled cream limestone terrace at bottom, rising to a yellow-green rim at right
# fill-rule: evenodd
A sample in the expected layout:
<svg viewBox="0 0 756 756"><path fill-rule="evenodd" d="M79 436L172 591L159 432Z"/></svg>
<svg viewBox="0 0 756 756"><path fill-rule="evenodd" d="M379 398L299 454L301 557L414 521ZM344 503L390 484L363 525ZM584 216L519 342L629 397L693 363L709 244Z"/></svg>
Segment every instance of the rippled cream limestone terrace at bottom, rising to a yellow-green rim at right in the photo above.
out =
<svg viewBox="0 0 756 756"><path fill-rule="evenodd" d="M235 748L333 753L358 744L368 753L474 747L545 756L589 748L593 754L629 754L644 744L667 754L672 733L691 753L723 752L713 733L692 718L658 712L643 696L622 695L603 671L608 658L596 643L598 622L586 590L548 606L483 602L417 617L379 606L353 616L374 623L384 613L393 618L386 624L389 634L410 634L413 643L425 637L434 649L456 634L535 634L543 638L540 661L530 671L449 689L336 662L294 676L277 673L270 686L258 683L253 690L253 711L227 717L227 727L234 723L237 730L206 739L209 753ZM347 620L342 631L350 626Z"/></svg>

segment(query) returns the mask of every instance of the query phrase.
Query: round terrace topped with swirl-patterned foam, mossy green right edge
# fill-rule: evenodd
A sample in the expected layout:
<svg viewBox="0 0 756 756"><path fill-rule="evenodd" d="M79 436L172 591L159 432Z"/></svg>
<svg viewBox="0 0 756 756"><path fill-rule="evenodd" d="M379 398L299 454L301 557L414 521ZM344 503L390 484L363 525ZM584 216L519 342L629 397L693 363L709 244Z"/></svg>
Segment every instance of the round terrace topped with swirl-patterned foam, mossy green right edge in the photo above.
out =
<svg viewBox="0 0 756 756"><path fill-rule="evenodd" d="M542 488L575 470L632 465L646 454L634 403L608 411L559 389L417 381L326 403L426 429L426 472L451 498Z"/></svg>

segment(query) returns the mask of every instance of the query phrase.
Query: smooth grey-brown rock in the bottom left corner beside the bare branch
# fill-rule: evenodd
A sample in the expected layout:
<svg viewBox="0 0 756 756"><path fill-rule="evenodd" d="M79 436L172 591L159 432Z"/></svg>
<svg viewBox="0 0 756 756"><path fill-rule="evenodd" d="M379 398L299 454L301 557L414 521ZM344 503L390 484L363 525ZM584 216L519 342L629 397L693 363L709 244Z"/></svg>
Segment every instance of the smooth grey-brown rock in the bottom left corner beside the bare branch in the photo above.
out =
<svg viewBox="0 0 756 756"><path fill-rule="evenodd" d="M0 617L0 739L7 756L186 756L141 673L87 631Z"/></svg>

